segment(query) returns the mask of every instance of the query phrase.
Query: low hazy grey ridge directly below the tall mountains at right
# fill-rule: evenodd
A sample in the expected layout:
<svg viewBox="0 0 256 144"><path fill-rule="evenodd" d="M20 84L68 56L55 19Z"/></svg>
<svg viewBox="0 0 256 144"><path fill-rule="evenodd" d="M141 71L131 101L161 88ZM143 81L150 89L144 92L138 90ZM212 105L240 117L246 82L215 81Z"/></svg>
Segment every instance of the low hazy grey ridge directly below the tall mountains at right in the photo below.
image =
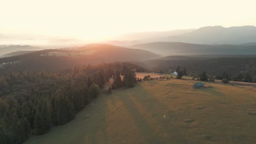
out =
<svg viewBox="0 0 256 144"><path fill-rule="evenodd" d="M168 55L256 55L256 45L206 45L177 42L156 42L128 46Z"/></svg>

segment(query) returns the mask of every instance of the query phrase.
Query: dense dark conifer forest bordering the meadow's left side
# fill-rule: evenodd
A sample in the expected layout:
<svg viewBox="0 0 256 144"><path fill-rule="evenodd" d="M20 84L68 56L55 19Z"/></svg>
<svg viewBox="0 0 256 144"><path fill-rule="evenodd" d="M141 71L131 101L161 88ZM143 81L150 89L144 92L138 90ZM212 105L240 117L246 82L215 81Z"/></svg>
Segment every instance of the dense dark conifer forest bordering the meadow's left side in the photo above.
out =
<svg viewBox="0 0 256 144"><path fill-rule="evenodd" d="M113 88L133 87L136 68L139 67L115 62L65 71L2 74L0 143L21 143L71 121L75 113L97 98L109 78L114 79Z"/></svg>

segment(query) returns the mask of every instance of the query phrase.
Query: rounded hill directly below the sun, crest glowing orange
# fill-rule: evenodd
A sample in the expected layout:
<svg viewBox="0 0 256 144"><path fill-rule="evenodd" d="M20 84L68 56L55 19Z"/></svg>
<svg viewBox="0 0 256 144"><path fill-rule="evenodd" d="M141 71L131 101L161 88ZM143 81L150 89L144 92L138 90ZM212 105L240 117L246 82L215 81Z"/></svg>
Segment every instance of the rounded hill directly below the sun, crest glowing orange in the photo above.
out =
<svg viewBox="0 0 256 144"><path fill-rule="evenodd" d="M0 63L19 62L3 65L8 70L56 70L73 68L75 65L99 64L115 61L146 61L160 56L149 51L128 49L107 44L90 44L70 50L51 49L35 51L25 55L0 58Z"/></svg>

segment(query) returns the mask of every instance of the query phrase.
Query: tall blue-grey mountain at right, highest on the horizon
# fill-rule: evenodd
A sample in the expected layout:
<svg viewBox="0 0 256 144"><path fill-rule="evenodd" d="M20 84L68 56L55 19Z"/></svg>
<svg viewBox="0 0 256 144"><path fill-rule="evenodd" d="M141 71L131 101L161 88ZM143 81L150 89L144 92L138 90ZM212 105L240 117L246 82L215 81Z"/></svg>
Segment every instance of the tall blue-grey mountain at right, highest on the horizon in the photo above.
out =
<svg viewBox="0 0 256 144"><path fill-rule="evenodd" d="M256 27L202 27L193 32L172 35L164 41L194 44L242 44L256 42Z"/></svg>

